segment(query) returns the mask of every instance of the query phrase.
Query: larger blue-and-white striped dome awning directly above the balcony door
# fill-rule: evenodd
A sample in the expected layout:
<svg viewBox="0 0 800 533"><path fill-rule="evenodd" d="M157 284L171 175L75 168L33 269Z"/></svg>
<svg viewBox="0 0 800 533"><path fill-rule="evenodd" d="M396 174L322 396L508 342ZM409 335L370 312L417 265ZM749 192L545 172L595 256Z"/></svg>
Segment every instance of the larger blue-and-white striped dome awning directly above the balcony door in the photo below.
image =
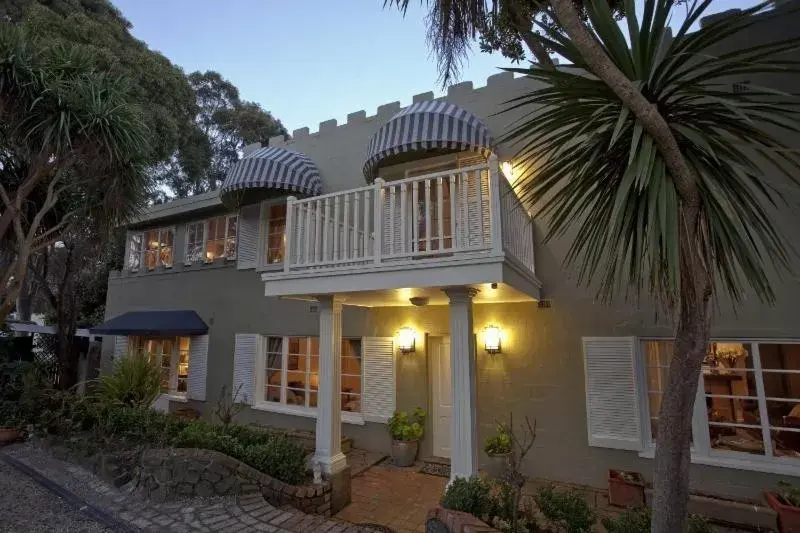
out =
<svg viewBox="0 0 800 533"><path fill-rule="evenodd" d="M486 124L445 100L411 104L395 114L369 141L364 176L372 180L387 159L421 150L478 152L488 157L494 139Z"/></svg>

